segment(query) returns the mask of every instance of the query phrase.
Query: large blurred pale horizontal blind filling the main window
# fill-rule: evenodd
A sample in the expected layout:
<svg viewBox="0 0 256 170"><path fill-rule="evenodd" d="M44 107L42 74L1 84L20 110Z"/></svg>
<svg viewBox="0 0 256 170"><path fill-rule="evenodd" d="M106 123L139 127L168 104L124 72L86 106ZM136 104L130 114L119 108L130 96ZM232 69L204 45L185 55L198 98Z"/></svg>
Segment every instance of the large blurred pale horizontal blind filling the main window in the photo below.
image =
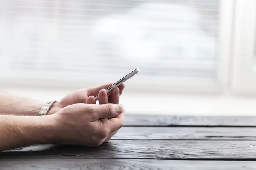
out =
<svg viewBox="0 0 256 170"><path fill-rule="evenodd" d="M2 0L0 78L215 79L220 0ZM108 74L106 74L108 73Z"/></svg>

